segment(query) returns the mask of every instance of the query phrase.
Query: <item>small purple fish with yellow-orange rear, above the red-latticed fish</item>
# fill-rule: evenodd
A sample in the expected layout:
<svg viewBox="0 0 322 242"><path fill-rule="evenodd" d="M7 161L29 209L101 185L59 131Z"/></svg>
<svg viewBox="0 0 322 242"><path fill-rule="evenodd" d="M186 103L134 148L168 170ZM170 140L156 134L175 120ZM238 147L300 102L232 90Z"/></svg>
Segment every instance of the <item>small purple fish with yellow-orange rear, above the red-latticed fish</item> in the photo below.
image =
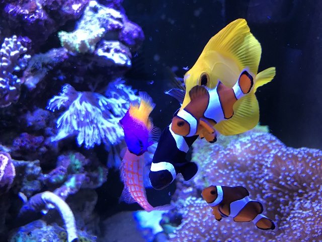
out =
<svg viewBox="0 0 322 242"><path fill-rule="evenodd" d="M128 150L135 155L142 155L147 147L157 141L159 129L153 126L149 115L155 104L146 92L139 92L140 104L130 103L130 107L120 120L124 130L124 139Z"/></svg>

